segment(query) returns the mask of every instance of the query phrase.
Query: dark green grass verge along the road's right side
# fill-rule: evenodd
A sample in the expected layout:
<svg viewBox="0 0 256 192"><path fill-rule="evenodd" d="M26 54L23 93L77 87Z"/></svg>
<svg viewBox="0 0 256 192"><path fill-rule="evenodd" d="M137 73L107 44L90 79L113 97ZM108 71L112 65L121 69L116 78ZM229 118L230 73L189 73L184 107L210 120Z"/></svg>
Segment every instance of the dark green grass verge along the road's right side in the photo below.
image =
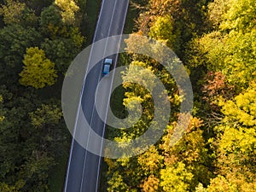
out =
<svg viewBox="0 0 256 192"><path fill-rule="evenodd" d="M131 4L126 15L124 34L131 34L135 31L135 19L138 16L138 10L134 9ZM125 66L128 64L127 56L125 54L119 55L117 67ZM125 88L121 85L113 90L110 99L110 107L113 114L119 119L124 119L127 115L127 111L123 105L123 100L125 98ZM113 139L114 135L118 135L119 129L113 129L107 126L105 132L105 138ZM100 180L100 191L108 191L108 164L102 160L102 172Z"/></svg>

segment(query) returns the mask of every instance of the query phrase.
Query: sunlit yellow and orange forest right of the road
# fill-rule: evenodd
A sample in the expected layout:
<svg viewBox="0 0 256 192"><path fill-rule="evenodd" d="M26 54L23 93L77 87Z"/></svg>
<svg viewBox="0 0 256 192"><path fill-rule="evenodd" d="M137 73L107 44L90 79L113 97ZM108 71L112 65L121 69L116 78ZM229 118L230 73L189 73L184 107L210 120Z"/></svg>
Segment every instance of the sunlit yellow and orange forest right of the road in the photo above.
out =
<svg viewBox="0 0 256 192"><path fill-rule="evenodd" d="M142 76L139 66L165 84L172 118L165 135L143 154L105 158L102 191L256 191L256 2L141 0L131 1L132 9L137 9L133 33L166 44L187 68L194 91L193 118L183 138L170 147L173 127L182 115L175 81L154 59L123 55L128 68L123 79ZM128 47L136 42L128 39ZM123 104L137 98L144 111L132 129L108 131L108 137L119 142L141 136L153 117L148 91L137 84L123 87Z"/></svg>

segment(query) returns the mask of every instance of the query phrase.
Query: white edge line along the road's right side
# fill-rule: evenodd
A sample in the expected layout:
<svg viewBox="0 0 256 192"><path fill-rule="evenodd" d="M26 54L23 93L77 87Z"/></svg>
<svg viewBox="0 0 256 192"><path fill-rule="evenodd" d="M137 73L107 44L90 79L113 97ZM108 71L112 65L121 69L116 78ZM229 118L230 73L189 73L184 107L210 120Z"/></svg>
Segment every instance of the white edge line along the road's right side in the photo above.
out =
<svg viewBox="0 0 256 192"><path fill-rule="evenodd" d="M126 7L125 7L125 18L124 18L124 23L123 23L123 26L122 26L122 29L121 29L121 34L124 32L124 27L125 27L125 20L126 20L126 15L127 15L127 11L128 11L128 7L129 7L129 0L127 1L126 3ZM121 41L121 39L120 39ZM120 42L119 41L119 42ZM115 58L115 62L114 62L114 68L116 67L117 65L117 61L118 61L118 54ZM113 79L114 79L114 73L115 71L113 70L113 76L112 76L112 81L111 81L111 85L110 85L110 91L112 90L113 88ZM108 118L108 107L110 105L110 97L111 97L111 94L108 96L108 105L107 105L107 111L106 111L106 116L105 116L105 120L104 120L104 126L103 126L103 131L102 131L102 142L103 142L103 137L105 135L105 130L106 130L106 124L105 122L107 122L107 118ZM101 144L101 154L102 154L102 148L103 148L103 143ZM96 182L96 191L98 190L98 184L99 184L99 177L100 177L100 165L101 165L101 157L99 158L99 162L98 162L98 170L97 170L97 182Z"/></svg>

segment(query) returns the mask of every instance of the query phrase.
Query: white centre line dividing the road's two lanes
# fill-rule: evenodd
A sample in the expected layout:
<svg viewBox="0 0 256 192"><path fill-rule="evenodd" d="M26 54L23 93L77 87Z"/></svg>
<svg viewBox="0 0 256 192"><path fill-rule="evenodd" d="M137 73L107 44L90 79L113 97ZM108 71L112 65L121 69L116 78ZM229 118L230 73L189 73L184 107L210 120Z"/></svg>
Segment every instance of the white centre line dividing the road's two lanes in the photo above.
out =
<svg viewBox="0 0 256 192"><path fill-rule="evenodd" d="M119 0L115 0L115 1L114 1L113 15L114 15L114 10L115 10L117 1L119 1ZM113 15L111 16L110 26L111 26L112 23L113 23ZM110 34L110 31L111 31L111 27L109 27L109 29L108 29L108 36L109 36L109 34ZM106 46L105 46L105 48L104 48L103 55L105 55L107 47L108 47L108 39L107 39L107 41L106 41ZM102 67L101 67L101 72L102 72ZM101 77L102 77L102 73L100 73L100 75L99 75L99 77L98 77L97 84L99 83ZM95 103L95 102L94 102L94 103ZM92 115L91 115L91 117L90 117L90 124L93 122L92 119L93 119L93 117L94 117L95 109L96 109L96 107L95 107L95 104L94 104L94 105L93 105L93 109L92 109ZM89 132L88 132L88 137L87 137L87 138L88 138L88 140L87 140L87 143L86 143L86 148L88 148L88 144L89 144L89 140L90 140L90 130L89 130ZM86 148L85 148L85 149L86 149ZM85 152L85 155L84 155L83 176L82 176L82 181L81 181L81 184L80 184L80 192L82 192L82 189L83 189L83 183L84 183L84 168L85 168L86 160L87 160L87 151Z"/></svg>

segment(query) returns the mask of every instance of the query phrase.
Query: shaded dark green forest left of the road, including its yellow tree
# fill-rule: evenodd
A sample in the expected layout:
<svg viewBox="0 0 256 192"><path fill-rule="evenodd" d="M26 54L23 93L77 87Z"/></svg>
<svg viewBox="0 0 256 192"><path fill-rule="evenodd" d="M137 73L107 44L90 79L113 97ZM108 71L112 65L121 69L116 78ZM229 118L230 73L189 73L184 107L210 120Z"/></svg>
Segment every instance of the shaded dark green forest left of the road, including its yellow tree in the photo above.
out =
<svg viewBox="0 0 256 192"><path fill-rule="evenodd" d="M0 191L61 191L71 143L61 86L89 40L86 1L0 3Z"/></svg>

